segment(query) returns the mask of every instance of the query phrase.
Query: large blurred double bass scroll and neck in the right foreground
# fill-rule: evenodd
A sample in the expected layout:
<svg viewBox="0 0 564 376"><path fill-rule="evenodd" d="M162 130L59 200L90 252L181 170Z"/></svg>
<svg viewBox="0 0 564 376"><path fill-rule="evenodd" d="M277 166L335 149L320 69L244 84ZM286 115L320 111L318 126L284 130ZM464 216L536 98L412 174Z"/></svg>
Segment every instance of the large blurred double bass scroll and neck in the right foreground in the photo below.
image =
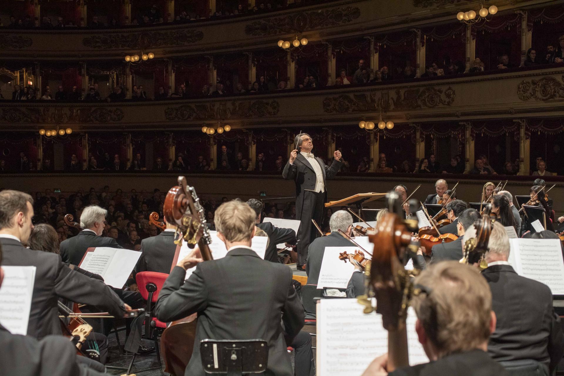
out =
<svg viewBox="0 0 564 376"><path fill-rule="evenodd" d="M374 244L370 263L367 295L359 297L359 303L365 305L364 313L374 310L367 300L376 297L376 312L382 315L382 324L388 330L388 361L386 370L392 372L409 365L407 351L407 308L414 293L411 275L417 275L418 269L406 271L404 268L408 253L415 253L417 242L413 242L411 233L417 231L417 220L401 219L402 210L398 194L386 195L389 212L376 224L376 231L369 235Z"/></svg>

